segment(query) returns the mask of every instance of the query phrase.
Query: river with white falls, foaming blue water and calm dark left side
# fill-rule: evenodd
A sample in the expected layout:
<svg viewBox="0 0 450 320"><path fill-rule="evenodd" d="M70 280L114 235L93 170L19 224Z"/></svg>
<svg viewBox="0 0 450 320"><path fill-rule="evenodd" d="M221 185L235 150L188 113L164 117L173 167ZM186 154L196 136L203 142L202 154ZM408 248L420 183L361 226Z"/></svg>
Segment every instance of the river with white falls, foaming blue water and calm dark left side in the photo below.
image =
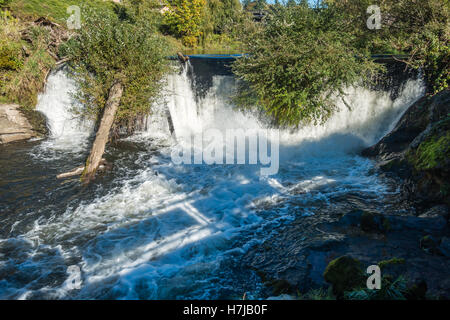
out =
<svg viewBox="0 0 450 320"><path fill-rule="evenodd" d="M303 216L384 210L395 197L359 152L423 95L421 80L405 81L394 100L347 89L351 109L339 102L324 125L280 131L279 171L261 176L260 165L172 161L191 134L266 129L233 107L232 75L202 68L193 61L167 78L145 130L110 146L112 171L87 187L55 178L83 163L93 123L69 111L75 84L65 71L50 75L37 106L50 136L0 147L0 299L267 298L240 263L249 248ZM81 271L75 289L70 266Z"/></svg>

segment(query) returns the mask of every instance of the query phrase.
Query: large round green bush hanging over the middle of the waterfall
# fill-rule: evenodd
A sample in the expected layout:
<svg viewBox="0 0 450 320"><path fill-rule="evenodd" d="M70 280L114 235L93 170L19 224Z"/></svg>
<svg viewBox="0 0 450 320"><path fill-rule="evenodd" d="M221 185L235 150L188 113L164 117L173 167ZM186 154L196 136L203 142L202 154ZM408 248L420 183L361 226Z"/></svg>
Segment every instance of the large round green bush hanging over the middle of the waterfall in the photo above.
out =
<svg viewBox="0 0 450 320"><path fill-rule="evenodd" d="M264 24L243 30L248 55L234 71L248 85L241 96L256 98L244 106L256 102L283 125L325 121L336 109L334 95L380 69L355 47L343 21L332 10L279 7Z"/></svg>

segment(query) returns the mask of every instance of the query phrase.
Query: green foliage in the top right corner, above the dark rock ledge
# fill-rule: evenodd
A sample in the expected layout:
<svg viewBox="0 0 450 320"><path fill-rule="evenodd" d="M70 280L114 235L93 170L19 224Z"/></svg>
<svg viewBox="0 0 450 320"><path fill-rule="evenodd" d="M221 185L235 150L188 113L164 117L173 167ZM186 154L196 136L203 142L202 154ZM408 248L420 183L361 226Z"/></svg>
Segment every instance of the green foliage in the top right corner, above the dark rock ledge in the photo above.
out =
<svg viewBox="0 0 450 320"><path fill-rule="evenodd" d="M405 53L409 66L421 68L429 91L437 93L450 83L450 6L442 0L327 0L332 10L346 14L357 46L372 53ZM383 17L380 30L366 27L369 5L377 4Z"/></svg>

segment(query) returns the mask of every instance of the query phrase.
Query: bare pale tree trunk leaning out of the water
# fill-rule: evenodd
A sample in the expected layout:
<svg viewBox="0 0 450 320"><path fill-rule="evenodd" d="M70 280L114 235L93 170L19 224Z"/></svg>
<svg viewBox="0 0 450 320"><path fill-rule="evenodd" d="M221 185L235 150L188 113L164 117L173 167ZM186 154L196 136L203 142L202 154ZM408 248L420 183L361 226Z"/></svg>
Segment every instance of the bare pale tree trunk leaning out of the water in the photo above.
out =
<svg viewBox="0 0 450 320"><path fill-rule="evenodd" d="M111 131L114 117L119 108L122 93L123 86L120 82L116 82L109 90L108 101L105 105L102 121L100 122L100 127L98 128L94 144L92 145L91 154L86 162L86 168L81 178L84 183L90 182L95 177L95 172L97 171L103 153L105 152L109 132Z"/></svg>

